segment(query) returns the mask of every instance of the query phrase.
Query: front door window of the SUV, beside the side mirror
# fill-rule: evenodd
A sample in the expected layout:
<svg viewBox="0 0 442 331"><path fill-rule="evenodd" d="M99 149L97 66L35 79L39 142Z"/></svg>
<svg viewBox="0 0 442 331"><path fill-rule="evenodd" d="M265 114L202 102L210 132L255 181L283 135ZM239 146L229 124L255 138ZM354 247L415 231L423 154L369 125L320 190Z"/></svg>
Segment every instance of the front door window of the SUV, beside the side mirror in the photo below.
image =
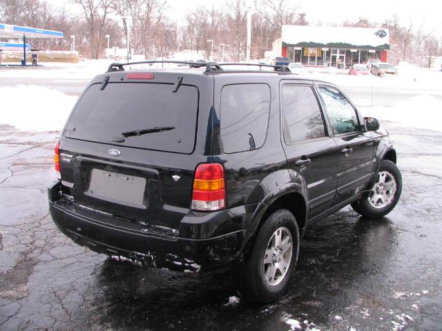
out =
<svg viewBox="0 0 442 331"><path fill-rule="evenodd" d="M353 106L342 93L334 88L321 86L320 96L323 98L334 134L356 132L360 130L358 117Z"/></svg>

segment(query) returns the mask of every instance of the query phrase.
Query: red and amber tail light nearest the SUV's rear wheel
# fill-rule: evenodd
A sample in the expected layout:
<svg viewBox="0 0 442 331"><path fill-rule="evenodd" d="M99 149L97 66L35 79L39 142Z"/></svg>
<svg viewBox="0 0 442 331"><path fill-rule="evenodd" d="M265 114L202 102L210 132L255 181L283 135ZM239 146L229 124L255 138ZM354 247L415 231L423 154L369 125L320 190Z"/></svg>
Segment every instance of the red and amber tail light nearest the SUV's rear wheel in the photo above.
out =
<svg viewBox="0 0 442 331"><path fill-rule="evenodd" d="M192 209L213 211L226 207L224 168L219 163L201 163L193 180Z"/></svg>

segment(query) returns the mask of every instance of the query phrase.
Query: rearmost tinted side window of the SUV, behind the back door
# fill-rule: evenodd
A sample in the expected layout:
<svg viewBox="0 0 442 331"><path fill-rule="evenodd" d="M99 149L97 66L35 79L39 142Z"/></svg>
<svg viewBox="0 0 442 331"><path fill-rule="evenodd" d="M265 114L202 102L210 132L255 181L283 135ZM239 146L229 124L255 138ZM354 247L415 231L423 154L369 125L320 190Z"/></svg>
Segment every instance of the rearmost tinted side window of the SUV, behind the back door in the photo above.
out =
<svg viewBox="0 0 442 331"><path fill-rule="evenodd" d="M267 136L270 88L266 84L227 85L221 91L221 144L226 153L260 148Z"/></svg>

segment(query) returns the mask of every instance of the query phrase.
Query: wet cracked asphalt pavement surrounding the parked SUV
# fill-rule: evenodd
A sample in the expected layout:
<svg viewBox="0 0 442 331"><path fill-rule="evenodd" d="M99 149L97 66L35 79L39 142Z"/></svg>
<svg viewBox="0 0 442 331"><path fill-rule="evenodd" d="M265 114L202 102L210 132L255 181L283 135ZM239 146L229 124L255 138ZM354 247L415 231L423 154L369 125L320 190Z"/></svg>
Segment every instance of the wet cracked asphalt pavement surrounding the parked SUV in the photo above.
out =
<svg viewBox="0 0 442 331"><path fill-rule="evenodd" d="M345 208L311 227L268 305L235 303L228 272L148 270L75 245L48 215L59 132L0 126L0 330L441 330L442 133L384 125L403 174L395 210Z"/></svg>

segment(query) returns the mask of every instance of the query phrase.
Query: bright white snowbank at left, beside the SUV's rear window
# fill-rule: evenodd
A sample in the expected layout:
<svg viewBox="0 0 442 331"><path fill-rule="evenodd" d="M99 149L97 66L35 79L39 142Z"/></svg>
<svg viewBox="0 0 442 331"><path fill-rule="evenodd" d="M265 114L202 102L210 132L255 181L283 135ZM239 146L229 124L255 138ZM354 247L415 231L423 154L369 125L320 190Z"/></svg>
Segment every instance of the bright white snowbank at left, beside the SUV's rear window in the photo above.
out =
<svg viewBox="0 0 442 331"><path fill-rule="evenodd" d="M42 86L0 88L0 123L26 131L62 130L77 97Z"/></svg>

